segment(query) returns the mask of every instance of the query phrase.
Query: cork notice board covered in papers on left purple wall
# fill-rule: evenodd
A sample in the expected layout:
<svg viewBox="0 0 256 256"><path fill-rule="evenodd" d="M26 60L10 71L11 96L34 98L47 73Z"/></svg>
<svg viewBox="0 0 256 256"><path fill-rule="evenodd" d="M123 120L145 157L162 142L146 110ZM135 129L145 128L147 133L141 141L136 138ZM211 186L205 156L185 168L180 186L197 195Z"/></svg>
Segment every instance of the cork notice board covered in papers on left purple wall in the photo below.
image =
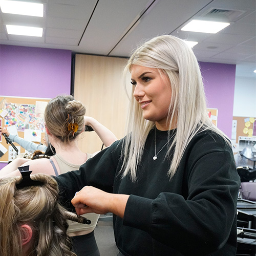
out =
<svg viewBox="0 0 256 256"><path fill-rule="evenodd" d="M6 126L11 134L42 143L44 138L44 111L50 99L0 96L0 126ZM13 144L24 153L24 148ZM10 144L0 136L0 162L9 162L16 156Z"/></svg>

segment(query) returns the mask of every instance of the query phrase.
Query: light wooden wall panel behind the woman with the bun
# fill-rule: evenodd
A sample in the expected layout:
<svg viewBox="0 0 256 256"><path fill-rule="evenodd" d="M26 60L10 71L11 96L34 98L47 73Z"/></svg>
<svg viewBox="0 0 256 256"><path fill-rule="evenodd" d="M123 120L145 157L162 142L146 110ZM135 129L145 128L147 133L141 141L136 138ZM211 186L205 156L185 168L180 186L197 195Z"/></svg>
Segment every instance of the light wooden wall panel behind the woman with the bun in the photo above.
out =
<svg viewBox="0 0 256 256"><path fill-rule="evenodd" d="M75 60L75 99L86 106L87 116L108 127L118 139L124 136L129 106L122 76L125 65L126 59L115 57L76 54ZM101 146L95 132L81 135L83 152L94 153Z"/></svg>

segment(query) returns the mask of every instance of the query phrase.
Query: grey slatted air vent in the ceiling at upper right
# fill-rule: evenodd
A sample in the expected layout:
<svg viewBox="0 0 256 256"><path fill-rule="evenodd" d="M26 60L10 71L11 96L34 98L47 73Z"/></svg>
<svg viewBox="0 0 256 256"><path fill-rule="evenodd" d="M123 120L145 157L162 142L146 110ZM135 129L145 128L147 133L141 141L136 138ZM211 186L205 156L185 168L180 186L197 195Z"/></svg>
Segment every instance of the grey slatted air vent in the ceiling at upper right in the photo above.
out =
<svg viewBox="0 0 256 256"><path fill-rule="evenodd" d="M245 11L241 10L226 10L226 9L216 9L212 8L202 14L201 18L206 19L215 19L223 22L236 22L238 18L244 13Z"/></svg>

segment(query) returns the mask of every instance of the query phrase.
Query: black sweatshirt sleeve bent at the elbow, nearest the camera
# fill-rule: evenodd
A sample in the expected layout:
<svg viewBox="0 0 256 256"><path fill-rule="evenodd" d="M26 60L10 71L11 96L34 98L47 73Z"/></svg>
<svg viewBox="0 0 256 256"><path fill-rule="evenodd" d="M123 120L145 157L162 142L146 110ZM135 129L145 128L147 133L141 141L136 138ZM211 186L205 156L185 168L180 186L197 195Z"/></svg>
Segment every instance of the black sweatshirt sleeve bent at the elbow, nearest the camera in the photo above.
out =
<svg viewBox="0 0 256 256"><path fill-rule="evenodd" d="M197 142L194 143L197 147ZM195 254L198 248L203 255L222 248L230 239L230 230L235 228L240 186L232 152L223 143L221 146L219 142L214 143L211 150L202 144L202 148L195 150L200 151L199 154L187 148L189 153L185 153L177 170L188 169L187 184L182 184L187 187L186 198L164 192L156 199L131 195L123 224L144 230L186 255Z"/></svg>

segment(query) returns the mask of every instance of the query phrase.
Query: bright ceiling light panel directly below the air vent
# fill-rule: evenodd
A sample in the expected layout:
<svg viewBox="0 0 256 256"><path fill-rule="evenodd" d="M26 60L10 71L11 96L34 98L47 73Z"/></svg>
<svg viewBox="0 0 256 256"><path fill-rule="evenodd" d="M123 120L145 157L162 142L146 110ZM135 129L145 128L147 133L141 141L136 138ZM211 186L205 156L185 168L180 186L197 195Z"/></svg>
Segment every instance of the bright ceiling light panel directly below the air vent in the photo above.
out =
<svg viewBox="0 0 256 256"><path fill-rule="evenodd" d="M226 28L229 25L230 23L208 22L206 20L194 19L194 20L191 20L191 22L189 22L187 25L185 25L181 30L216 34L217 32Z"/></svg>

